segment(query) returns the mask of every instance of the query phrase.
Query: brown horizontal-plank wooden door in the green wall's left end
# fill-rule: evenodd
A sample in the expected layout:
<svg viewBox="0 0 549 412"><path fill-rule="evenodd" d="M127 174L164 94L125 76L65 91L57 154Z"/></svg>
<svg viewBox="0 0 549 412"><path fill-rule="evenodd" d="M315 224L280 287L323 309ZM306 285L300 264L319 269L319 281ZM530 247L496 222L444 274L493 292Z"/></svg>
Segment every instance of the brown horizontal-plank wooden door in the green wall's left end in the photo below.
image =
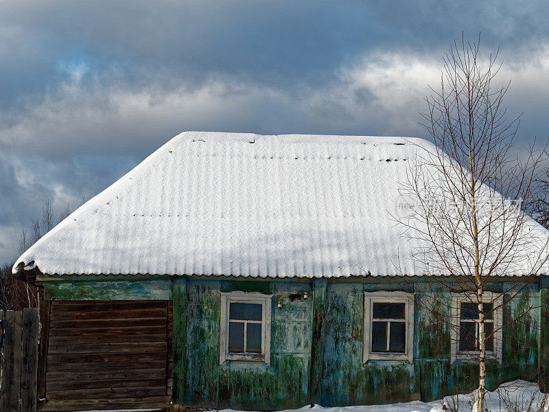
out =
<svg viewBox="0 0 549 412"><path fill-rule="evenodd" d="M43 411L167 407L167 301L53 301Z"/></svg>

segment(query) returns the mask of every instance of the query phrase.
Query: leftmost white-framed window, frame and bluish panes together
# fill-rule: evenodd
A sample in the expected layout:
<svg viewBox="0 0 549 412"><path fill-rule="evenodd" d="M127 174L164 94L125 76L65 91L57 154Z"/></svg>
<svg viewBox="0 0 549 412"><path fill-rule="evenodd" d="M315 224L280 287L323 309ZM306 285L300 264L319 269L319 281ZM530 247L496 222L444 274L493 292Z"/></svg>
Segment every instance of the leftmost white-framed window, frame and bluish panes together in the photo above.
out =
<svg viewBox="0 0 549 412"><path fill-rule="evenodd" d="M270 365L271 297L257 292L222 293L220 363L260 361Z"/></svg>

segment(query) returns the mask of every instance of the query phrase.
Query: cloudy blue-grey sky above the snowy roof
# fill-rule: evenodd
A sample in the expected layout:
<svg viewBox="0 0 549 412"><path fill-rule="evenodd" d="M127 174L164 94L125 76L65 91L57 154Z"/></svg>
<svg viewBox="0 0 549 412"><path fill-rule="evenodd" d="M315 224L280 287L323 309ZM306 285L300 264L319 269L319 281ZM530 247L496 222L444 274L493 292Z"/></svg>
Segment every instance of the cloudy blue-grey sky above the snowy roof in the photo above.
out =
<svg viewBox="0 0 549 412"><path fill-rule="evenodd" d="M462 31L500 47L517 144L549 135L547 1L0 1L0 264L184 130L425 137Z"/></svg>

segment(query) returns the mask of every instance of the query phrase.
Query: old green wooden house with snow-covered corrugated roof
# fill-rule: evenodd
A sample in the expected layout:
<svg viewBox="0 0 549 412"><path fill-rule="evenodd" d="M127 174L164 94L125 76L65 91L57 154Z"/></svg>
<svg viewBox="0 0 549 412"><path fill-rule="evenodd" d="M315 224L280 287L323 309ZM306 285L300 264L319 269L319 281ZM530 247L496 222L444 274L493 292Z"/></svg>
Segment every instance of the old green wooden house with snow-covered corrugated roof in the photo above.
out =
<svg viewBox="0 0 549 412"><path fill-rule="evenodd" d="M414 242L391 219L426 144L235 133L169 141L14 266L47 299L39 409L265 410L474 387L474 348L426 309L434 295L448 308L460 296L416 271ZM548 390L549 277L502 276L493 292L521 282L491 319L502 330L489 346L488 386L539 378Z"/></svg>

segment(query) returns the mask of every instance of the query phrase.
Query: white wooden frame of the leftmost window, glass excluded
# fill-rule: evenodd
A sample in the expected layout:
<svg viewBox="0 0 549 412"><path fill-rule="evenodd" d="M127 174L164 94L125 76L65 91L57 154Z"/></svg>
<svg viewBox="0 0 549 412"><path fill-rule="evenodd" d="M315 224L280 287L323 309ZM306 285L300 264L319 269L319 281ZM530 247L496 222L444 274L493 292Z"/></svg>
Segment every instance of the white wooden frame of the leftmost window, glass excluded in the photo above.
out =
<svg viewBox="0 0 549 412"><path fill-rule="evenodd" d="M255 361L264 362L270 366L270 317L272 295L259 292L222 292L221 293L221 323L219 363L224 361ZM261 304L261 353L231 354L229 353L229 305L231 303ZM244 329L246 330L246 329Z"/></svg>

